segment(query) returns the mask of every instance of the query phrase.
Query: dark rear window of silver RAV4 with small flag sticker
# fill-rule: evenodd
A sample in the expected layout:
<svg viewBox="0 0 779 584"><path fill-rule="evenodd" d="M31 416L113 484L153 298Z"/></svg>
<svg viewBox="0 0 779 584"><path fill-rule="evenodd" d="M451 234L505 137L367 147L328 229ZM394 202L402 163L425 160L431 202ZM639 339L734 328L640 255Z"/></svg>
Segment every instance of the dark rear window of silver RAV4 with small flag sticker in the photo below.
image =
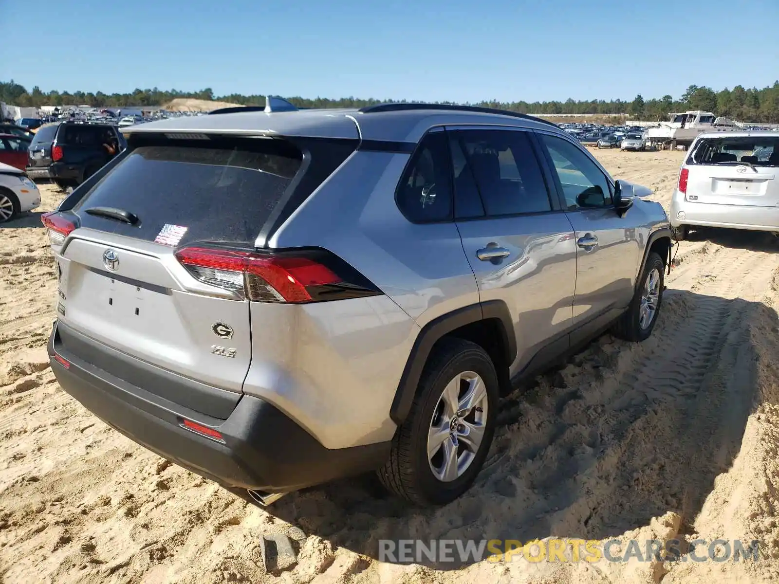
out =
<svg viewBox="0 0 779 584"><path fill-rule="evenodd" d="M253 242L301 167L302 154L281 139L178 140L139 146L73 210L83 227L170 245L192 241ZM112 207L136 225L86 213Z"/></svg>

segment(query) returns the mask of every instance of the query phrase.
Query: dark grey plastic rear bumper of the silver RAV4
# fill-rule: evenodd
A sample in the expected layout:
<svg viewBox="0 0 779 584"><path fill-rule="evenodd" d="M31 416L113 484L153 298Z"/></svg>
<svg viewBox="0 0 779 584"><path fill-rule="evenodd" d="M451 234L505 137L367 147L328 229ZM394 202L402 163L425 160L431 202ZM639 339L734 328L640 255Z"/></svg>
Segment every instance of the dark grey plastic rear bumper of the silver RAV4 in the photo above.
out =
<svg viewBox="0 0 779 584"><path fill-rule="evenodd" d="M263 399L241 396L226 419L198 413L124 382L65 348L55 322L51 368L65 392L106 424L159 456L226 487L286 492L368 470L386 461L390 442L326 449ZM147 364L146 364L147 368ZM147 374L147 371L144 371ZM183 427L211 427L221 440Z"/></svg>

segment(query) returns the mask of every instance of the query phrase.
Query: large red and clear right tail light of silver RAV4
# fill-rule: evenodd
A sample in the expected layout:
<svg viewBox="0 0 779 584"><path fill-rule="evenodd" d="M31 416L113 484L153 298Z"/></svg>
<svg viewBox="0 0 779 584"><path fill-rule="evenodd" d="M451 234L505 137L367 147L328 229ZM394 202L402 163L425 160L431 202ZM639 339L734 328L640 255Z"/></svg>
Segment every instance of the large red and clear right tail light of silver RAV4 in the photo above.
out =
<svg viewBox="0 0 779 584"><path fill-rule="evenodd" d="M196 280L229 290L241 300L298 304L381 294L325 250L263 254L192 247L175 255Z"/></svg>

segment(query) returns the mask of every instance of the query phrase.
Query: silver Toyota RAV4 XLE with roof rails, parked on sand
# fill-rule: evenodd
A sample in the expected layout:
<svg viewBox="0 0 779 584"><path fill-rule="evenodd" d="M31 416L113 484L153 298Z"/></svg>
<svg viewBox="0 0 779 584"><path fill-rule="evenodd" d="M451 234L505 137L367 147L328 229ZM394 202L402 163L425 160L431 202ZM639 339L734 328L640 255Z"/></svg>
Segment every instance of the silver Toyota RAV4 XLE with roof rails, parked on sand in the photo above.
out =
<svg viewBox="0 0 779 584"><path fill-rule="evenodd" d="M500 396L652 332L668 218L555 125L277 103L125 128L44 216L51 366L122 434L265 504L376 470L439 505Z"/></svg>

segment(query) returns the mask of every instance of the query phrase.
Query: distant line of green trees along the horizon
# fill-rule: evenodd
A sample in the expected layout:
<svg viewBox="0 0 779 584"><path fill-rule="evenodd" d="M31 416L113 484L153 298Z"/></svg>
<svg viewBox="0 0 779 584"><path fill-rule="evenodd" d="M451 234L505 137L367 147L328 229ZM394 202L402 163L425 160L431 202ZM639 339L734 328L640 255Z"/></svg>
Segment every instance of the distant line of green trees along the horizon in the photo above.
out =
<svg viewBox="0 0 779 584"><path fill-rule="evenodd" d="M179 91L136 89L132 93L84 93L83 91L49 91L44 92L38 86L28 91L26 87L14 83L0 81L0 101L19 106L41 107L43 105L90 105L93 107L160 107L177 97L199 100L227 101L241 105L263 105L264 95L230 95L215 96L213 90L206 88L200 91ZM357 97L341 97L328 99L316 97L286 97L298 107L365 107L382 102L406 102L407 100L377 100L359 99ZM439 102L454 103L454 102ZM733 118L745 122L779 123L779 81L773 86L765 86L759 90L756 87L745 89L737 85L732 90L725 88L714 91L710 87L691 85L686 92L674 100L670 95L659 99L644 100L640 95L633 101L625 100L566 100L566 101L527 101L502 102L495 100L481 101L482 107L498 107L523 114L629 114L633 118L645 120L665 120L672 111L705 110L716 115Z"/></svg>

